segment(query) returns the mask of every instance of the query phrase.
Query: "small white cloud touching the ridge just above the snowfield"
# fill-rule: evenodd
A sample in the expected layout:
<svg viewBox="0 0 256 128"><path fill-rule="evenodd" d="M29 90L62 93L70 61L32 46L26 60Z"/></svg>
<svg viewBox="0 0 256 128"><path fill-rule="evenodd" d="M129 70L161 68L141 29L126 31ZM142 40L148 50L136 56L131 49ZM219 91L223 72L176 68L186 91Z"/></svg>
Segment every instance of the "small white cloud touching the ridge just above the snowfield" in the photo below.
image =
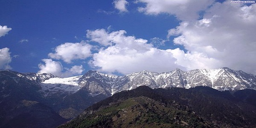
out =
<svg viewBox="0 0 256 128"><path fill-rule="evenodd" d="M38 73L52 73L60 77L70 77L74 75L80 75L84 68L82 65L75 65L69 68L63 68L61 62L52 61L52 59L42 59L45 64L38 64ZM64 71L65 70L65 71Z"/></svg>

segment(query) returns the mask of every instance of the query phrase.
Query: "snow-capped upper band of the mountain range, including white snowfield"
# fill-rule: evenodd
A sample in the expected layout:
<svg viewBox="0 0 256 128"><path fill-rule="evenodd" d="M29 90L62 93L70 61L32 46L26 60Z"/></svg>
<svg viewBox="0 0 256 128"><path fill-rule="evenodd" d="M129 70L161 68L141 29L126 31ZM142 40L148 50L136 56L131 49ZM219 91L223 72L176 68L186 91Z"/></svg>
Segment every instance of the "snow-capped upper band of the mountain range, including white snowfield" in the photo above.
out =
<svg viewBox="0 0 256 128"><path fill-rule="evenodd" d="M87 90L92 96L98 94L113 95L122 90L131 90L141 85L151 88L165 87L196 87L208 86L217 90L255 89L256 76L227 67L213 70L182 71L176 69L170 72L156 73L143 70L125 76L113 76L97 71L88 71L83 76L59 78L48 73L17 73L3 72L14 78L25 78L40 83L44 96L55 93L76 93ZM18 81L17 81L18 82Z"/></svg>

